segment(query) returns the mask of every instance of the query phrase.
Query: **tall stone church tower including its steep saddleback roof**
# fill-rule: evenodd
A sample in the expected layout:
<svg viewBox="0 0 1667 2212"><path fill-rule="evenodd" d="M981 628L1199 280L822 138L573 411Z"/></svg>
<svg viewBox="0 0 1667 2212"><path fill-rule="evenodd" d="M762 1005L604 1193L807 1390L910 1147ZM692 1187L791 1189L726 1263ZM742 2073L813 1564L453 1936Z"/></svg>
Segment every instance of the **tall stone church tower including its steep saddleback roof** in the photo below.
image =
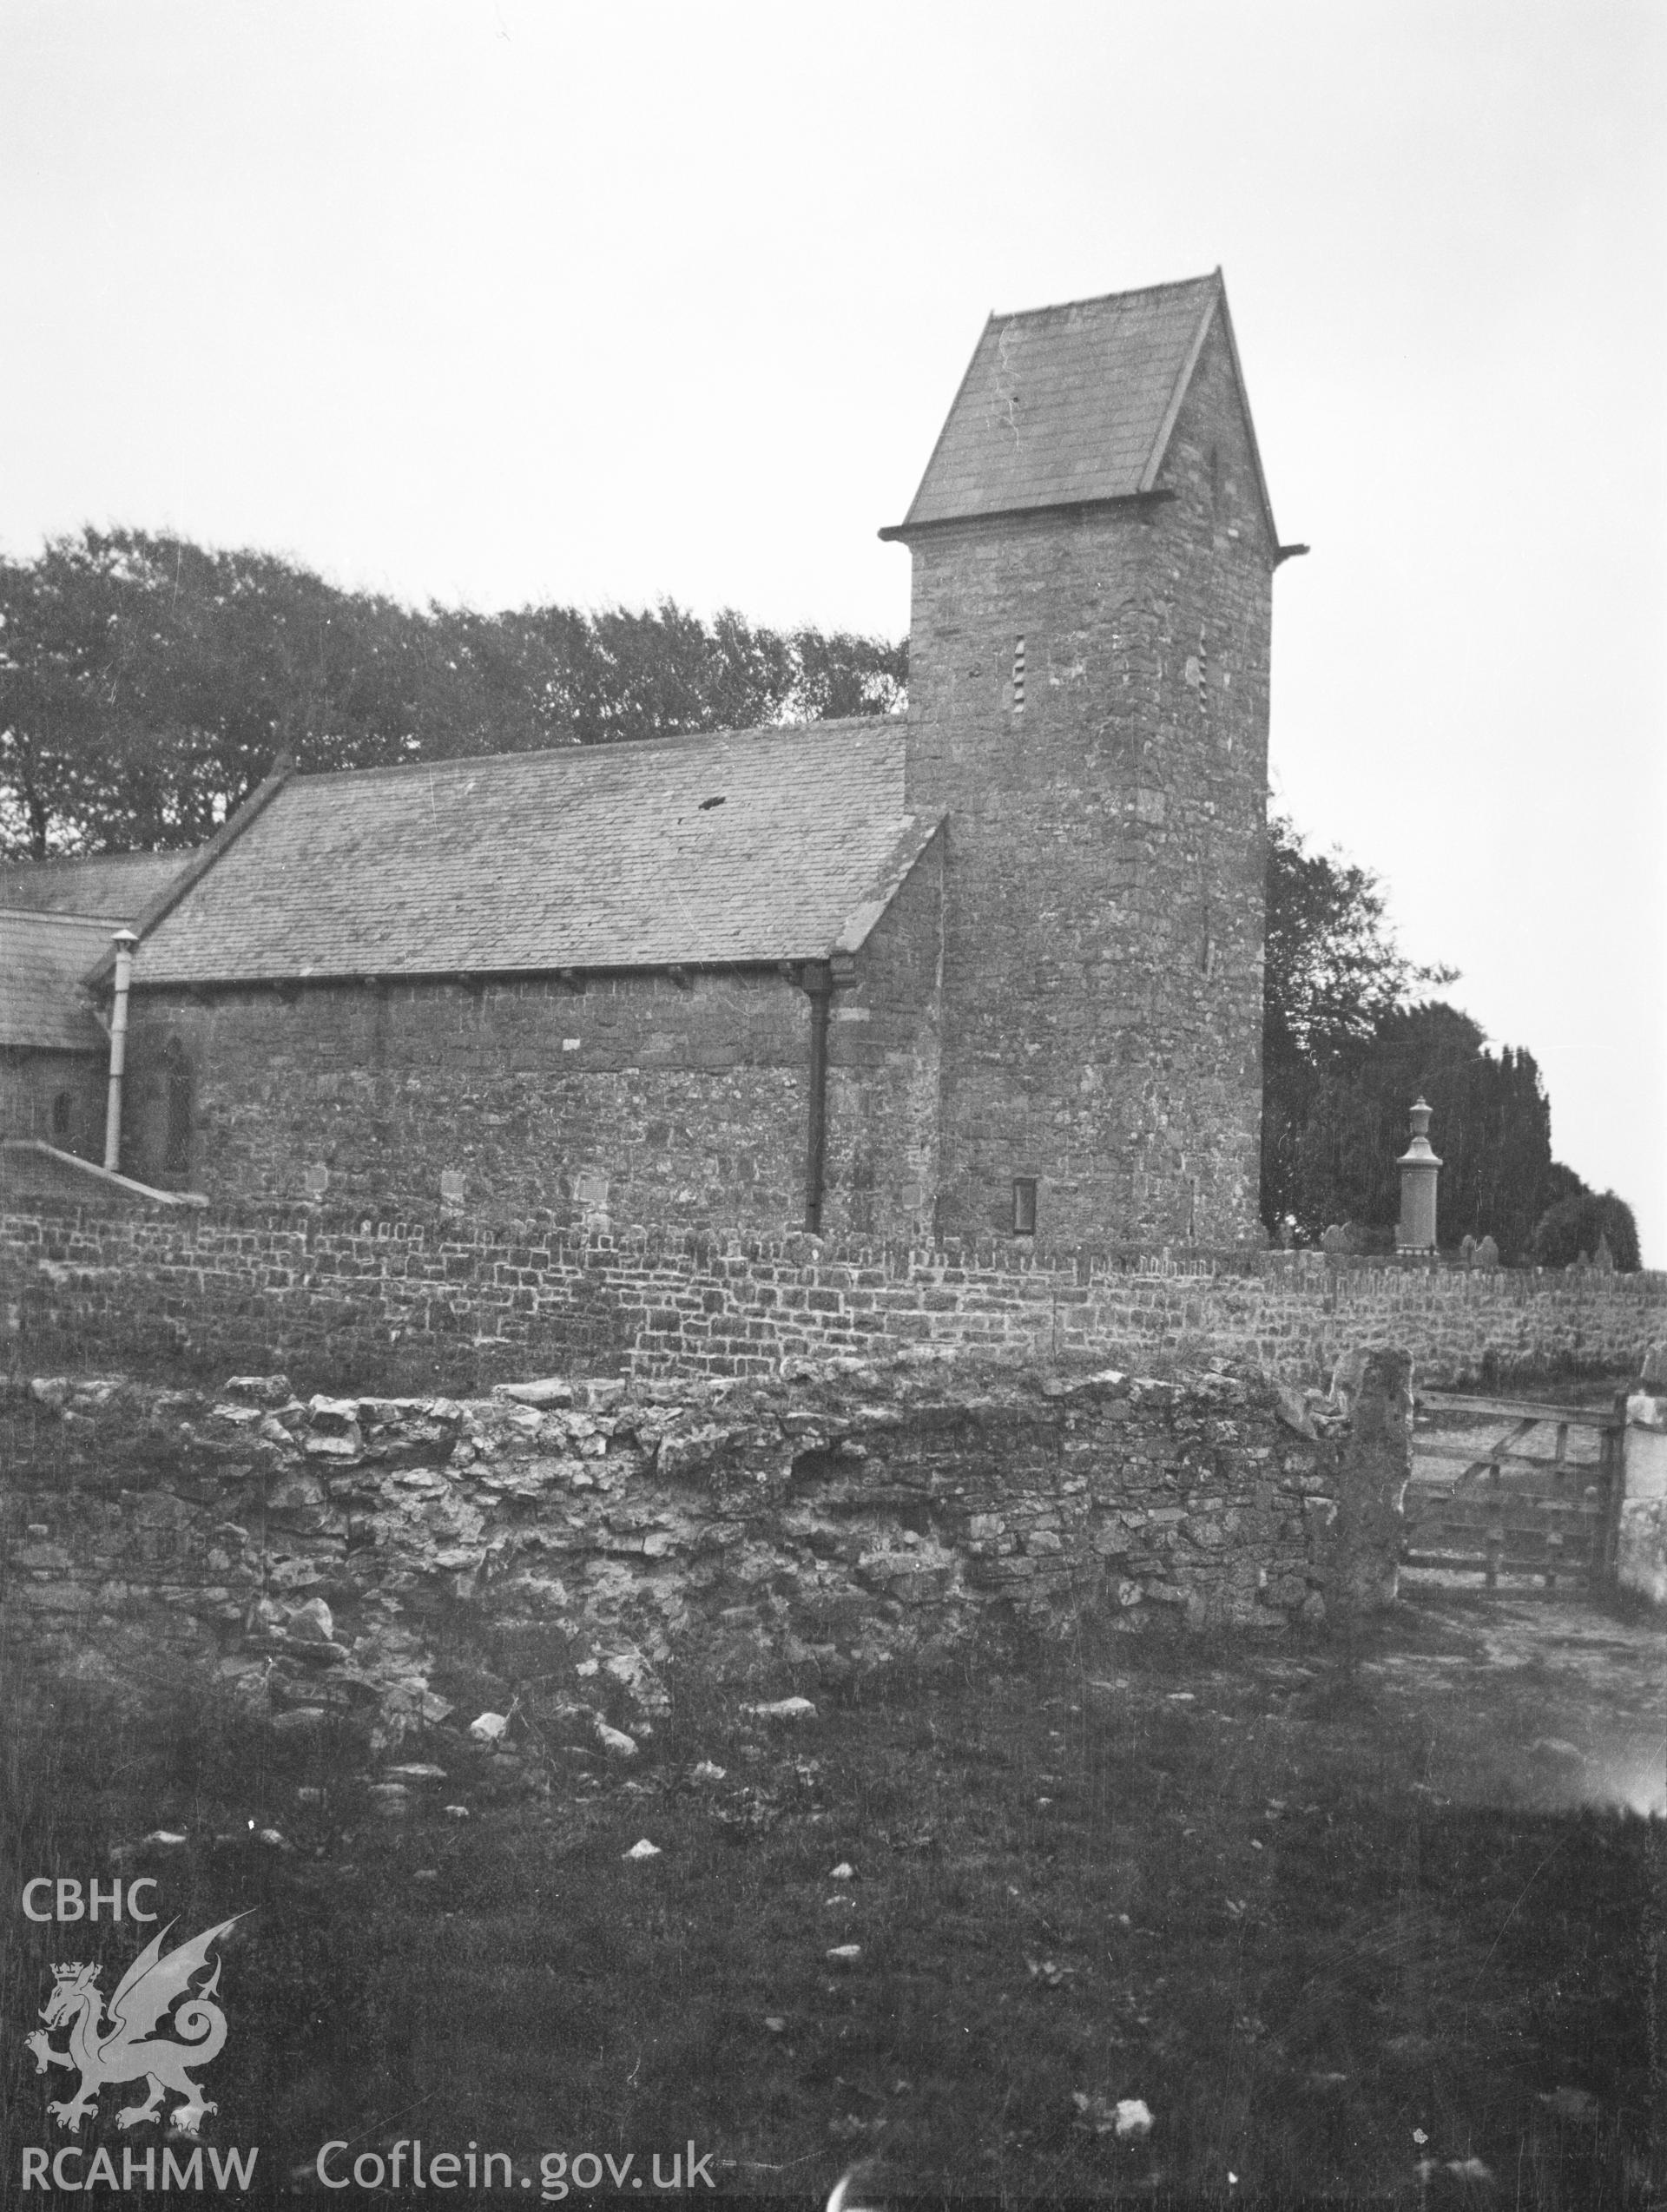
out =
<svg viewBox="0 0 1667 2212"><path fill-rule="evenodd" d="M990 316L909 515L946 1237L1256 1234L1280 546L1220 272Z"/></svg>

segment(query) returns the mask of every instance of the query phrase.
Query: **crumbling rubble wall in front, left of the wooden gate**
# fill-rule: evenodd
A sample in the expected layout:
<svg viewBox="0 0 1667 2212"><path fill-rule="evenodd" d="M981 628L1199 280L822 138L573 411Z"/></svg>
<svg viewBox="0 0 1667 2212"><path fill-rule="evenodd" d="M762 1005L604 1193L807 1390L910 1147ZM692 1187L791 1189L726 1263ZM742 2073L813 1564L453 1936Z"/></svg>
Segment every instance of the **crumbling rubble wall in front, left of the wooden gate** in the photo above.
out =
<svg viewBox="0 0 1667 2212"><path fill-rule="evenodd" d="M33 1378L0 1427L27 1663L144 1694L172 1657L385 1750L473 1721L489 1646L619 1721L683 1648L838 1681L990 1610L1285 1630L1324 1615L1349 1480L1340 1418L1262 1378L940 1360L475 1400Z"/></svg>

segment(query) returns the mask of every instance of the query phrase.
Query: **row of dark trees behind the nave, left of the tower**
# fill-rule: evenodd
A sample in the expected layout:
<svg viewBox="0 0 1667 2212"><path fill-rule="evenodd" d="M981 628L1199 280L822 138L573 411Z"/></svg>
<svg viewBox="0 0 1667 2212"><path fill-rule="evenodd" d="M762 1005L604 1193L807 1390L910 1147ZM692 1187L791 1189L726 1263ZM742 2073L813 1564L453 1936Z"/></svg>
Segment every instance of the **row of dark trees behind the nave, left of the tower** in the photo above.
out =
<svg viewBox="0 0 1667 2212"><path fill-rule="evenodd" d="M0 854L199 845L279 752L391 768L882 714L906 644L723 611L409 608L150 531L0 560Z"/></svg>

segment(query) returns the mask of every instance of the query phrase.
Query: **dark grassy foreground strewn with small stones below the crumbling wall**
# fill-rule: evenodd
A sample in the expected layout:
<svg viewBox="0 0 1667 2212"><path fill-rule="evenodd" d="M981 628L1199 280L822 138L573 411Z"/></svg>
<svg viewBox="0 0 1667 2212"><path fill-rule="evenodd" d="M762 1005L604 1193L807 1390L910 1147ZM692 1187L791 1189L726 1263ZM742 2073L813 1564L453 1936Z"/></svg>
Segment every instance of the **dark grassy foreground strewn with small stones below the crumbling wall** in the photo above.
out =
<svg viewBox="0 0 1667 2212"><path fill-rule="evenodd" d="M997 1637L953 1674L814 1690L800 1723L683 1670L623 1765L526 1688L513 1763L449 1728L405 1747L447 1770L407 1818L347 1734L256 1732L184 1679L146 1719L35 1686L7 1874L106 1871L168 1827L190 1840L126 1865L177 1933L254 1909L206 2141L259 2141L272 2179L325 2139L473 2139L517 2177L692 2139L723 2188L818 2201L880 2159L904 2192L1002 2199L1647 2205L1667 1825L1570 1809L1523 1752L1579 1730L1574 1690L1475 1652L1457 1599L1302 1652ZM641 1836L659 1856L623 1858ZM13 1918L4 1986L33 2013L95 1936L108 1989L128 1929ZM15 2177L49 2139L15 2037L4 2088ZM1114 2132L1119 2099L1150 2135Z"/></svg>

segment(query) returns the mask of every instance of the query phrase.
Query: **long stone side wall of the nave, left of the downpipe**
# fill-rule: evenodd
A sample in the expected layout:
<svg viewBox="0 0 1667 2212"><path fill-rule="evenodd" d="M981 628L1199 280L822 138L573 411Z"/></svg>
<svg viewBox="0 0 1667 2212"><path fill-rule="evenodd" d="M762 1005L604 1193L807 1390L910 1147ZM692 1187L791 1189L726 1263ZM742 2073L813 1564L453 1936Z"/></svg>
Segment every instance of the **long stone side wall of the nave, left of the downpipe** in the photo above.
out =
<svg viewBox="0 0 1667 2212"><path fill-rule="evenodd" d="M794 1219L805 993L778 975L325 982L135 995L124 1166L212 1201ZM190 1159L166 1159L170 1071ZM323 1170L323 1175L318 1175Z"/></svg>

